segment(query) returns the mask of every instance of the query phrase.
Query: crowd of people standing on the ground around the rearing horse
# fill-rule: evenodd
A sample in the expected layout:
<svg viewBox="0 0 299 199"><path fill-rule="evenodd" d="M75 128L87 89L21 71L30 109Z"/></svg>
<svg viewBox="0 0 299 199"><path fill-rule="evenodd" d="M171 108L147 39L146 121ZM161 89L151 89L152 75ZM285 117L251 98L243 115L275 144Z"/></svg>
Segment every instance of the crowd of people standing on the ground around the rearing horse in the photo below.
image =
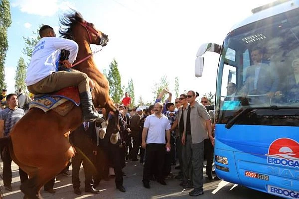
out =
<svg viewBox="0 0 299 199"><path fill-rule="evenodd" d="M16 94L5 95L6 108L0 112L0 136L7 137L14 124L25 114L27 105L22 105L18 98L22 98L21 91ZM161 102L168 94L167 100ZM147 108L133 107L131 98L125 93L121 103L116 103L119 109L120 138L112 144L110 136L113 129L98 121L83 122L72 131L69 141L74 148L75 155L69 165L61 171L67 177L72 177L74 193L81 195L79 171L81 164L84 169L84 190L87 193L98 194L97 186L101 180L115 177L116 188L126 192L123 185L123 168L128 161L139 161L143 164L143 185L150 189L150 181L154 180L166 185L165 180L180 180L183 188L194 188L190 196L203 194L204 156L207 160L206 178L213 180L213 107L203 96L196 101L197 93L189 91L171 102L172 95L164 89L154 104ZM132 108L131 108L132 106ZM208 111L209 110L209 111ZM27 111L27 110L26 110ZM106 115L105 108L97 108L98 114ZM108 121L115 117L108 114ZM105 128L106 134L100 137L100 131ZM5 191L12 191L11 187L11 157L8 148L1 149L3 161L3 184ZM72 166L70 174L69 166ZM171 168L176 166L178 175L172 174ZM28 179L27 174L19 169L21 183ZM58 174L57 174L58 175ZM214 177L214 180L218 180ZM55 193L55 178L44 185L44 191Z"/></svg>

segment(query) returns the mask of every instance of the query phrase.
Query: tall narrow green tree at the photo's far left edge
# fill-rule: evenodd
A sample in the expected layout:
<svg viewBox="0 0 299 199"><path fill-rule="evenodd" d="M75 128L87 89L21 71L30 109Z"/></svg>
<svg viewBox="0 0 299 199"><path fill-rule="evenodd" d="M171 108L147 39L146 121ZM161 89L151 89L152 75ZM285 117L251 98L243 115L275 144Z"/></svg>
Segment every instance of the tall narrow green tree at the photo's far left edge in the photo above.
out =
<svg viewBox="0 0 299 199"><path fill-rule="evenodd" d="M7 28L11 25L9 0L0 0L0 88L6 88L4 63L8 49Z"/></svg>

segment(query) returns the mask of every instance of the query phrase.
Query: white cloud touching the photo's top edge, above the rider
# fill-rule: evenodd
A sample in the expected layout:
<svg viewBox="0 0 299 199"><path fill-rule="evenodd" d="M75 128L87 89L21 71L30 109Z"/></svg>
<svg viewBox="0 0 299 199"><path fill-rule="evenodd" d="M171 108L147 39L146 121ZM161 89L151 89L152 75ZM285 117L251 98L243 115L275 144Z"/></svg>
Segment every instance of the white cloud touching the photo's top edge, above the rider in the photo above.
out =
<svg viewBox="0 0 299 199"><path fill-rule="evenodd" d="M74 8L69 1L58 0L15 0L12 7L18 7L22 12L36 14L40 16L53 16L58 10Z"/></svg>

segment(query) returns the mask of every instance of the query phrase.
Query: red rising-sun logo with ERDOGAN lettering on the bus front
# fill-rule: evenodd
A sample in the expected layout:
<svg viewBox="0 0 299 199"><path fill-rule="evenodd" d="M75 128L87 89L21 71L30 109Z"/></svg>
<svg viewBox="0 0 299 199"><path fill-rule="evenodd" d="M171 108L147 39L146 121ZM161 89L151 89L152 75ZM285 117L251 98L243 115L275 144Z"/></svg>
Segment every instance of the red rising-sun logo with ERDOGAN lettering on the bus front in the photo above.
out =
<svg viewBox="0 0 299 199"><path fill-rule="evenodd" d="M290 138L279 138L269 146L267 163L299 168L299 143Z"/></svg>

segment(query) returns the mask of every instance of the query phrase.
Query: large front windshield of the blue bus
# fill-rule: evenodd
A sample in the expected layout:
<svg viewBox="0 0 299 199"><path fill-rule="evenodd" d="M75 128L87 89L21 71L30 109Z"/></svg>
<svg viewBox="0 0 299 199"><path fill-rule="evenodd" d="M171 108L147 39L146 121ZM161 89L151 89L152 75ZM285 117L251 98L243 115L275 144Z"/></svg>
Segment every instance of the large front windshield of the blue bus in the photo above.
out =
<svg viewBox="0 0 299 199"><path fill-rule="evenodd" d="M299 108L298 11L256 21L227 35L217 78L218 122L227 123L224 118L247 108ZM268 111L267 116L271 114Z"/></svg>

